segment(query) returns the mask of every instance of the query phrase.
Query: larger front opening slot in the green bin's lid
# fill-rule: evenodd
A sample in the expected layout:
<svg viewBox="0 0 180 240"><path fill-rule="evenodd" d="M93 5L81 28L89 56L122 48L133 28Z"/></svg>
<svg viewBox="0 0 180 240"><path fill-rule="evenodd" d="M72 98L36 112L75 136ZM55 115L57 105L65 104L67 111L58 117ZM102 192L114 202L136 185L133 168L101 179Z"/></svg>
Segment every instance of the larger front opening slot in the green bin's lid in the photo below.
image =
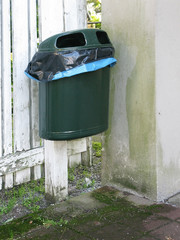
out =
<svg viewBox="0 0 180 240"><path fill-rule="evenodd" d="M57 48L78 47L84 45L86 45L86 41L82 33L68 34L59 37L56 41Z"/></svg>

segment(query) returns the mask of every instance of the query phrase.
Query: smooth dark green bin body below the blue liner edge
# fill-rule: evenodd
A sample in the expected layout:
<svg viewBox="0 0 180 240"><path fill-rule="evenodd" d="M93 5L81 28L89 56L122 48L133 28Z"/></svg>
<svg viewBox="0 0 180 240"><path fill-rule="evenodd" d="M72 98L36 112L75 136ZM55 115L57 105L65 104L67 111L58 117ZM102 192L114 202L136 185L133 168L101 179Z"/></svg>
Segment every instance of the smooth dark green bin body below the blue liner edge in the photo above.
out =
<svg viewBox="0 0 180 240"><path fill-rule="evenodd" d="M48 140L69 140L108 128L110 67L39 83L39 133Z"/></svg>

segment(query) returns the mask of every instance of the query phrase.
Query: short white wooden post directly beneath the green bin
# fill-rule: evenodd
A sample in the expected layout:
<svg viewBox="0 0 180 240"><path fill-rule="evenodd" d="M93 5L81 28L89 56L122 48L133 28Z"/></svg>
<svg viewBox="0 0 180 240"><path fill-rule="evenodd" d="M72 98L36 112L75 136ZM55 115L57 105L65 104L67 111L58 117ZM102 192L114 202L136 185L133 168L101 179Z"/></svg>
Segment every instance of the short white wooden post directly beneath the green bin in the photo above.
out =
<svg viewBox="0 0 180 240"><path fill-rule="evenodd" d="M45 192L56 202L68 195L67 141L45 141Z"/></svg>

